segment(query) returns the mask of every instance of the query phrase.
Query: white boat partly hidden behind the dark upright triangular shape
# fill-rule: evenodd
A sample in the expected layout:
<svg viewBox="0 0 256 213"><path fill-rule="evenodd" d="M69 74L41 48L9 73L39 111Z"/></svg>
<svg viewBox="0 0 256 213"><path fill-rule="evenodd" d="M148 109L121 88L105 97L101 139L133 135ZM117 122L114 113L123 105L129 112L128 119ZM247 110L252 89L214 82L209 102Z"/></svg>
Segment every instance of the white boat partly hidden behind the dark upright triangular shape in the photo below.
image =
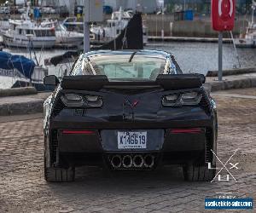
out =
<svg viewBox="0 0 256 213"><path fill-rule="evenodd" d="M113 12L111 19L107 20L107 26L91 26L90 32L94 35L96 41L108 43L113 38L118 37L122 30L128 25L133 16L132 10ZM143 24L143 44L148 43L147 27Z"/></svg>

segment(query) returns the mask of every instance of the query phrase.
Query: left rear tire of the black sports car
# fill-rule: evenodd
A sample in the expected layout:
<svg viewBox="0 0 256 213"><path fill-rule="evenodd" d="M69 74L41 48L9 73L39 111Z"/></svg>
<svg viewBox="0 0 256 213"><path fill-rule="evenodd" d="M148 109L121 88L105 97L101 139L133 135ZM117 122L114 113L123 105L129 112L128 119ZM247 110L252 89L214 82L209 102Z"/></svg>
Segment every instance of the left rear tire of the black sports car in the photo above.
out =
<svg viewBox="0 0 256 213"><path fill-rule="evenodd" d="M44 158L44 179L49 182L67 182L74 181L75 168L70 167L68 169L60 167L47 167L46 159Z"/></svg>

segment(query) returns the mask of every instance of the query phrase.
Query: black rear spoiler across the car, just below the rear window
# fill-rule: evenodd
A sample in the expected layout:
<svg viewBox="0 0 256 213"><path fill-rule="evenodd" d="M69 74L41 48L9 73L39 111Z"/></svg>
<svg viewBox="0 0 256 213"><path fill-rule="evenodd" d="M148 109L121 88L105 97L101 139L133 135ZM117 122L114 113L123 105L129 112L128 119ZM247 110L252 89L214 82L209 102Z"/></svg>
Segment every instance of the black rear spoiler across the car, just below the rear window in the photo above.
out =
<svg viewBox="0 0 256 213"><path fill-rule="evenodd" d="M109 82L105 75L64 76L62 89L100 90L100 89L191 89L200 88L206 78L202 74L160 74L155 81Z"/></svg>

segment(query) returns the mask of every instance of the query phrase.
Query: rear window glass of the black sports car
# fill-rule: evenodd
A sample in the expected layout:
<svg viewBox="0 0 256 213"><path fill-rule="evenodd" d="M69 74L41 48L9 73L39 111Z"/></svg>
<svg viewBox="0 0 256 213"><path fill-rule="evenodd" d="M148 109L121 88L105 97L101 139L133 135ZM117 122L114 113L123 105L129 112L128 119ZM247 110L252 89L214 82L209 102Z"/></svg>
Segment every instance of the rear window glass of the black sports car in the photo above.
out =
<svg viewBox="0 0 256 213"><path fill-rule="evenodd" d="M165 68L162 55L93 55L89 57L97 74L110 80L155 80Z"/></svg>

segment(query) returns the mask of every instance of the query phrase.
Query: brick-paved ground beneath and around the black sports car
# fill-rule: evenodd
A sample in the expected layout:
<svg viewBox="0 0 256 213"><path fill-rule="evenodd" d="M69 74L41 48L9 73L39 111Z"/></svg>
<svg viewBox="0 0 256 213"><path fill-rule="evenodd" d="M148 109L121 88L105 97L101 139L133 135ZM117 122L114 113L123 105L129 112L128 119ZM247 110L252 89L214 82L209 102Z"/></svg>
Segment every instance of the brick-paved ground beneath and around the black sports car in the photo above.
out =
<svg viewBox="0 0 256 213"><path fill-rule="evenodd" d="M181 168L172 166L117 174L80 168L75 182L47 183L42 119L1 119L0 212L203 212L204 199L217 193L255 200L256 100L250 96L255 90L213 95L218 103L218 154L225 161L239 149L230 161L239 162L239 170L230 170L237 182L185 182Z"/></svg>

